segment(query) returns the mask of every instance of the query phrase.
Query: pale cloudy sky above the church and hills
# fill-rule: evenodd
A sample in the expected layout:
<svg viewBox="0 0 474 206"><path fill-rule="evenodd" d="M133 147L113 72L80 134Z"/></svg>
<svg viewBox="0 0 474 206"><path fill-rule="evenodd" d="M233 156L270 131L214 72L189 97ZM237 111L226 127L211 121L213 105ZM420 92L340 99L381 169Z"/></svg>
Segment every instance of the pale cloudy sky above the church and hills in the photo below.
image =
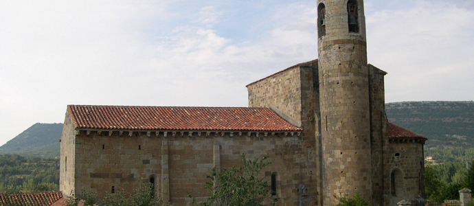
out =
<svg viewBox="0 0 474 206"><path fill-rule="evenodd" d="M317 58L317 1L2 0L0 145L68 104L248 106ZM474 100L474 1L365 0L386 102Z"/></svg>

